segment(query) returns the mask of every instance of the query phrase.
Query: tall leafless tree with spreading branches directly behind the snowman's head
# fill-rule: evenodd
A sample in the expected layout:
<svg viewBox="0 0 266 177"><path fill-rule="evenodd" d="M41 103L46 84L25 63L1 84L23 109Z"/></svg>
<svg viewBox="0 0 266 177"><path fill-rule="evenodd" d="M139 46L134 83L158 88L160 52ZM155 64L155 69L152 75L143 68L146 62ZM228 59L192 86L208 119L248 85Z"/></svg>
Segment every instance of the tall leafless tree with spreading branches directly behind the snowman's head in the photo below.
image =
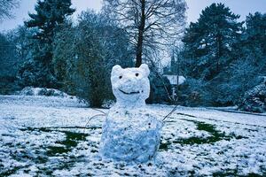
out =
<svg viewBox="0 0 266 177"><path fill-rule="evenodd" d="M104 10L121 21L136 49L136 66L145 50L160 49L183 32L184 0L104 0Z"/></svg>

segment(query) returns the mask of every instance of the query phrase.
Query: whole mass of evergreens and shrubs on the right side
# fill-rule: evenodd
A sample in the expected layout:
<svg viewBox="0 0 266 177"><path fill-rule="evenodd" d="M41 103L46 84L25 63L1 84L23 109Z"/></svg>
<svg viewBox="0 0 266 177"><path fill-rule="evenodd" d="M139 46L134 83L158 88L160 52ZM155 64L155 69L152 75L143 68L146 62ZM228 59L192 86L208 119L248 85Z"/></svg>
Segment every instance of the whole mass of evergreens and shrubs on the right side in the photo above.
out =
<svg viewBox="0 0 266 177"><path fill-rule="evenodd" d="M186 29L181 63L192 80L187 81L190 93L183 92L197 92L198 105L237 104L258 76L266 74L265 17L250 14L246 28L238 19L224 4L211 4Z"/></svg>

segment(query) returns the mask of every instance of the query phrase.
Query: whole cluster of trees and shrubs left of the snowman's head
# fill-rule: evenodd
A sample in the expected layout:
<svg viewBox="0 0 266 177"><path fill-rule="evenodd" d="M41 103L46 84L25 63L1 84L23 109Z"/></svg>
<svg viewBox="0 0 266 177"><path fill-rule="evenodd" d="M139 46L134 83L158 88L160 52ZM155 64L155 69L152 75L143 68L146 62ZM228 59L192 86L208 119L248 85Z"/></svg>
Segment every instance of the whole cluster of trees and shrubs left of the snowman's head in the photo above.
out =
<svg viewBox="0 0 266 177"><path fill-rule="evenodd" d="M90 106L113 99L113 65L133 66L129 37L118 24L93 11L74 24L70 0L37 1L35 12L1 34L1 94L33 86L64 90Z"/></svg>

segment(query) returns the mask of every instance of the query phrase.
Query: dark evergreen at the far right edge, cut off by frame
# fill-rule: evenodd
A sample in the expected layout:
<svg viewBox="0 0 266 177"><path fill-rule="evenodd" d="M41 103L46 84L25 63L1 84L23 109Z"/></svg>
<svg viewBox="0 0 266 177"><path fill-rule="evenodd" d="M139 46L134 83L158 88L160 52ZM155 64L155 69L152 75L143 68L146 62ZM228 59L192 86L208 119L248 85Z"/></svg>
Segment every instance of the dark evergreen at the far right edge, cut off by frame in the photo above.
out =
<svg viewBox="0 0 266 177"><path fill-rule="evenodd" d="M254 88L266 75L266 14L255 12L246 17L246 27L231 63L227 84L234 100Z"/></svg>

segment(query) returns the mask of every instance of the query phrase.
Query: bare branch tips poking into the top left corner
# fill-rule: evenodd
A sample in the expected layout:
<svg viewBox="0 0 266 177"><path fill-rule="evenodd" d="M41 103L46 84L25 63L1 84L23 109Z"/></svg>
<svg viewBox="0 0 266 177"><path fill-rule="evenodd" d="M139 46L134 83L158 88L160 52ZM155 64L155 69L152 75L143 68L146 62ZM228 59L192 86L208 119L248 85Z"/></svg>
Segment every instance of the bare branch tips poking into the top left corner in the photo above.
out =
<svg viewBox="0 0 266 177"><path fill-rule="evenodd" d="M4 18L11 19L12 9L18 8L20 5L20 0L0 0L0 22Z"/></svg>

